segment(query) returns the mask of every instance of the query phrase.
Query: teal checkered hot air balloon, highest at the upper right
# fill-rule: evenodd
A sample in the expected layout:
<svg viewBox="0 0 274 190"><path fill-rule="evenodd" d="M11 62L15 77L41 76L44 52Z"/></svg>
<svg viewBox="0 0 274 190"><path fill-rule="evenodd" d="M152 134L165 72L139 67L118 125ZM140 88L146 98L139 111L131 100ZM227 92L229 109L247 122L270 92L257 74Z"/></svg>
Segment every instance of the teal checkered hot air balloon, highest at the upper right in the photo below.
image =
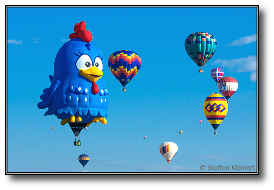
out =
<svg viewBox="0 0 274 190"><path fill-rule="evenodd" d="M207 32L196 32L190 34L185 40L185 50L188 56L200 67L202 67L217 50L217 41L212 34Z"/></svg>

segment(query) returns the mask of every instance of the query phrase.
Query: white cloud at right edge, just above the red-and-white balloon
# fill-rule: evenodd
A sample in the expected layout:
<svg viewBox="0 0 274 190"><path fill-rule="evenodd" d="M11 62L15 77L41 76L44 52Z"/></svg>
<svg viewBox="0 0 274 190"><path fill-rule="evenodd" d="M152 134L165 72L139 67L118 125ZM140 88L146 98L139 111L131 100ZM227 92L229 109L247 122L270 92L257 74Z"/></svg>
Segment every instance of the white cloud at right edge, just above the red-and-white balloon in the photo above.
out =
<svg viewBox="0 0 274 190"><path fill-rule="evenodd" d="M257 56L249 56L239 59L217 59L211 65L219 65L229 69L231 72L251 72L250 80L257 81Z"/></svg>

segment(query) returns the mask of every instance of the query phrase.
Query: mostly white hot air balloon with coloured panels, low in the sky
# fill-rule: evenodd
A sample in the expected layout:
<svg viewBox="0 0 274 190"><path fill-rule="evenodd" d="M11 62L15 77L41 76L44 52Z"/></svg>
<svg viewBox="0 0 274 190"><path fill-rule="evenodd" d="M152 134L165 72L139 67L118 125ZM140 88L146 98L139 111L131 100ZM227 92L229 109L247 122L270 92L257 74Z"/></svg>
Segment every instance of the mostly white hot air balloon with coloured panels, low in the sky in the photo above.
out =
<svg viewBox="0 0 274 190"><path fill-rule="evenodd" d="M169 164L170 160L175 156L178 151L178 146L174 142L163 142L160 145L160 153L167 160Z"/></svg>

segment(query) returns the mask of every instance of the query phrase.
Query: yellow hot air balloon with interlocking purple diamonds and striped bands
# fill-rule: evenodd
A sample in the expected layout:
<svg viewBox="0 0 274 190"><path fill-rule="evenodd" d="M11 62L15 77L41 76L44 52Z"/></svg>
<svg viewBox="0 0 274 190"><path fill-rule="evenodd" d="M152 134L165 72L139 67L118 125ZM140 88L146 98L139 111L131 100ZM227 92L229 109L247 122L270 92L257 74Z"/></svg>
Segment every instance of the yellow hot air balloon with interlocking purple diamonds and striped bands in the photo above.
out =
<svg viewBox="0 0 274 190"><path fill-rule="evenodd" d="M226 99L221 94L213 93L206 98L203 110L206 119L215 129L214 134L217 134L217 128L227 115L228 104Z"/></svg>

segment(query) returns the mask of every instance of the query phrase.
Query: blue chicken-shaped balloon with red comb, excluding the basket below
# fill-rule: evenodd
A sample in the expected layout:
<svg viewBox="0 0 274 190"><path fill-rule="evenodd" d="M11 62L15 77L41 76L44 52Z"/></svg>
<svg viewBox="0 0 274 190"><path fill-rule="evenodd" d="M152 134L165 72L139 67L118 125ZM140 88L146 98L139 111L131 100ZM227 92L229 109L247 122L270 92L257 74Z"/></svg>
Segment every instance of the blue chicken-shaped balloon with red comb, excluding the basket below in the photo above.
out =
<svg viewBox="0 0 274 190"><path fill-rule="evenodd" d="M69 123L75 136L91 123L107 124L108 90L104 81L104 58L91 42L92 34L84 21L74 27L75 33L58 51L51 85L43 90L39 109L48 108L46 115Z"/></svg>

